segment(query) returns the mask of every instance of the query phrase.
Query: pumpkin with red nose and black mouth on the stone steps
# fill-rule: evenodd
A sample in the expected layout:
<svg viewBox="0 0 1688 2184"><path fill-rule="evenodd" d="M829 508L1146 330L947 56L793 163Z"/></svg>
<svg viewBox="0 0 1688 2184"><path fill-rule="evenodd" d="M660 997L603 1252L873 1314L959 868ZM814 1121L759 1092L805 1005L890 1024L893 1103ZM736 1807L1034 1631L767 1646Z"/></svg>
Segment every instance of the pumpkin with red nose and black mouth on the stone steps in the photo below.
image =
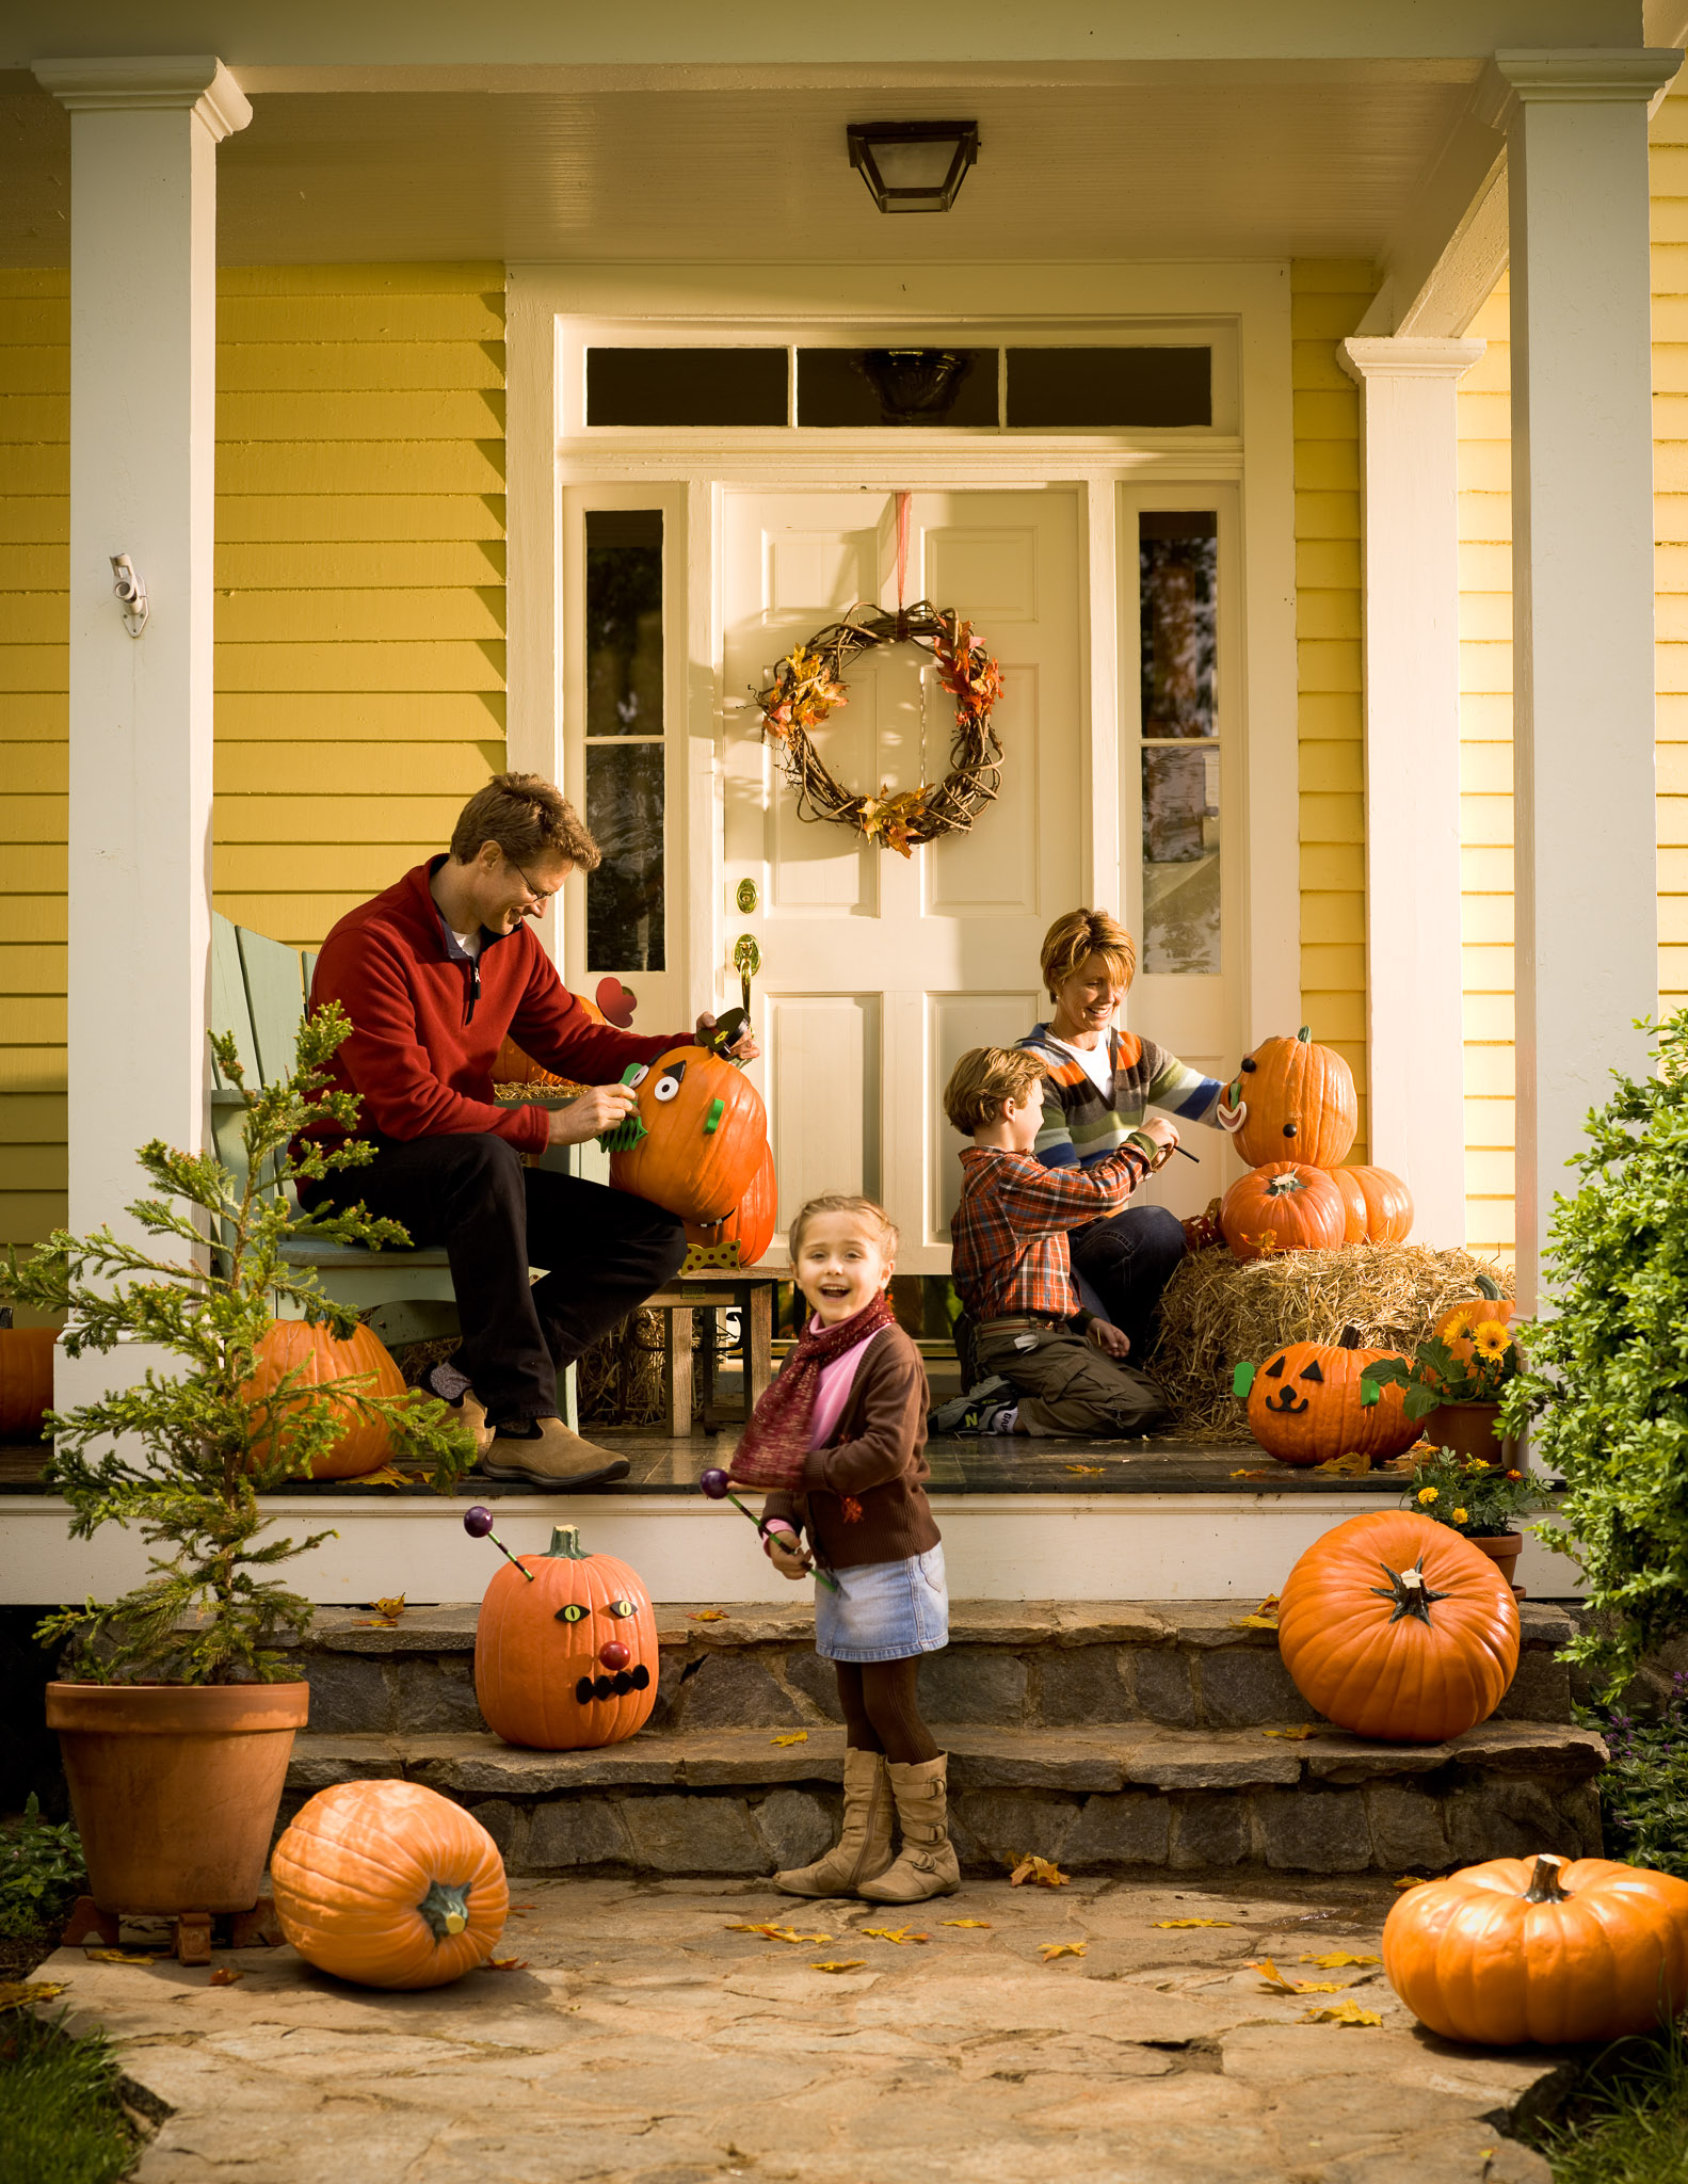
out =
<svg viewBox="0 0 1688 2184"><path fill-rule="evenodd" d="M494 1572L474 1629L474 1695L504 1743L618 1745L657 1704L651 1594L625 1562L587 1555L559 1524L548 1553Z"/></svg>

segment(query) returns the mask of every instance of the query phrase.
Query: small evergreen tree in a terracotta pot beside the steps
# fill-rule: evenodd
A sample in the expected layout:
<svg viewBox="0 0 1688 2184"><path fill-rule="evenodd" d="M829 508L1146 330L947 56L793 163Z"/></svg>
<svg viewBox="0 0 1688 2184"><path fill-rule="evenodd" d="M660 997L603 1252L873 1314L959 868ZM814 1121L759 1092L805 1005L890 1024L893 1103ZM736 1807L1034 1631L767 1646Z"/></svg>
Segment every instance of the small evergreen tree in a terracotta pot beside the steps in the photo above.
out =
<svg viewBox="0 0 1688 2184"><path fill-rule="evenodd" d="M314 1273L282 1258L284 1243L408 1243L391 1221L312 1216L275 1188L369 1160L356 1140L288 1151L314 1116L356 1125L358 1099L328 1090L325 1075L349 1029L338 1009L306 1018L293 1075L258 1090L245 1085L234 1037L212 1040L245 1101L247 1182L212 1153L144 1144L155 1195L129 1214L157 1249L109 1227L83 1238L57 1230L0 1271L0 1295L66 1315L72 1356L142 1341L183 1363L179 1376L148 1369L140 1385L46 1422L46 1483L70 1503L72 1538L133 1524L153 1548L151 1575L122 1599L63 1607L39 1627L68 1642L48 1723L103 1911L245 1911L258 1900L310 1699L280 1640L304 1636L312 1607L271 1572L332 1535L264 1540L260 1494L308 1474L347 1431L347 1409L380 1417L395 1452L441 1487L474 1461L443 1404L376 1396L367 1376L312 1382L293 1369L269 1393L249 1387L277 1308L341 1339L356 1326Z"/></svg>

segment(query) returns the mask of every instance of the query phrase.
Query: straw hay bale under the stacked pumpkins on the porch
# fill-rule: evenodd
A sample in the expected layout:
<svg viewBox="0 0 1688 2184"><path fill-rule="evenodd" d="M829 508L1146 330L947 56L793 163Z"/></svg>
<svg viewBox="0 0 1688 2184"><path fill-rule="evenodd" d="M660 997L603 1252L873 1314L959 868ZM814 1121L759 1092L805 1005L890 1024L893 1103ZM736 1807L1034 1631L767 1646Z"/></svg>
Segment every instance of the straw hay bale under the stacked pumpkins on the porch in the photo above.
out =
<svg viewBox="0 0 1688 2184"><path fill-rule="evenodd" d="M1192 1251L1160 1299L1160 1341L1144 1372L1166 1389L1192 1441L1247 1441L1232 1367L1264 1363L1284 1343L1334 1343L1358 1328L1369 1350L1422 1343L1437 1317L1476 1293L1478 1273L1513 1293L1509 1267L1422 1243L1350 1243L1336 1251L1282 1251L1240 1265L1229 1251Z"/></svg>

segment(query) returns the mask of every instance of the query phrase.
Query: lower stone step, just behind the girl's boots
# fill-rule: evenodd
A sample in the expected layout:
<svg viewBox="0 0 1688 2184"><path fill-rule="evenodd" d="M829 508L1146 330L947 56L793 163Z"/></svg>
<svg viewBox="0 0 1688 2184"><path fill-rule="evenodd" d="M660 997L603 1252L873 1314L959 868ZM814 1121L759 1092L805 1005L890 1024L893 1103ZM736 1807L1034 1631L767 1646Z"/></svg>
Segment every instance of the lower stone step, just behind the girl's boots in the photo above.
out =
<svg viewBox="0 0 1688 2184"><path fill-rule="evenodd" d="M1297 1728L1299 1723L1282 1723ZM332 1782L406 1778L467 1806L513 1874L766 1874L834 1841L843 1732L642 1730L594 1752L524 1752L489 1732L299 1736L284 1819ZM1068 1872L1430 1874L1478 1859L1601 1850L1590 1730L1487 1721L1443 1745L1179 1730L1155 1723L937 1723L950 1832L970 1872L1026 1852Z"/></svg>

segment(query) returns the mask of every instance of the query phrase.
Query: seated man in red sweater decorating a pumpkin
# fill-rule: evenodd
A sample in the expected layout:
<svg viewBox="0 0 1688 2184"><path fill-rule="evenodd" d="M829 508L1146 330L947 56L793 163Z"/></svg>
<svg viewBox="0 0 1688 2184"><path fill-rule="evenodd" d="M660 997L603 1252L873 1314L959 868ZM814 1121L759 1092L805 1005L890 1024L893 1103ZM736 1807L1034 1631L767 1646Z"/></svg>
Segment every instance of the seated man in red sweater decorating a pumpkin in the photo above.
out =
<svg viewBox="0 0 1688 2184"><path fill-rule="evenodd" d="M518 1158L614 1129L633 1107L627 1064L692 1037L596 1022L528 930L568 874L596 863L550 782L500 773L463 806L448 856L334 926L310 981L312 1009L338 1000L352 1020L334 1077L362 1099L356 1136L376 1158L306 1186L308 1203L362 1201L415 1245L445 1245L463 1348L430 1369L428 1391L461 1409L483 1472L539 1487L625 1476L622 1457L563 1426L557 1374L686 1258L675 1214ZM504 1037L587 1090L557 1109L496 1105ZM756 1046L740 1037L734 1053L749 1061ZM544 1280L531 1284L531 1267Z"/></svg>

